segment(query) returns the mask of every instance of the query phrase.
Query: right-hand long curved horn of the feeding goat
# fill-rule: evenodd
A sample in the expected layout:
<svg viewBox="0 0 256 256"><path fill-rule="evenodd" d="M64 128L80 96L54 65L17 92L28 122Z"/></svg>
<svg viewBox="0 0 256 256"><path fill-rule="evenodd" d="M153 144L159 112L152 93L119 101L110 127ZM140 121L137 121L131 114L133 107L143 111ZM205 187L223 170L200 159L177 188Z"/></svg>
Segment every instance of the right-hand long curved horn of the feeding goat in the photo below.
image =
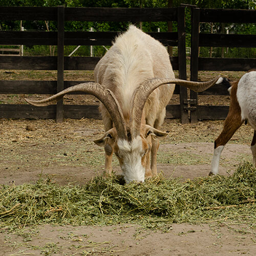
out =
<svg viewBox="0 0 256 256"><path fill-rule="evenodd" d="M130 126L132 138L135 138L140 134L140 124L144 105L148 96L150 96L150 94L159 86L162 86L166 83L176 83L195 92L203 92L211 86L214 86L219 77L220 76L207 82L194 82L176 78L151 78L143 81L134 91L132 96L132 103L130 108Z"/></svg>

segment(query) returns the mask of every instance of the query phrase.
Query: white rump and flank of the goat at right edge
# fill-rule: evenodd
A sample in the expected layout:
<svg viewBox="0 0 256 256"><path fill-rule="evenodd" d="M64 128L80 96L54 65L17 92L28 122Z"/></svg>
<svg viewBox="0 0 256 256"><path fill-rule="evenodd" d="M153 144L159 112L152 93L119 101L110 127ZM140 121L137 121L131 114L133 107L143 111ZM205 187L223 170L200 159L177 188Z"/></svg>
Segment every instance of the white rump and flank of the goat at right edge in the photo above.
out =
<svg viewBox="0 0 256 256"><path fill-rule="evenodd" d="M256 71L244 74L238 83L237 98L241 108L242 119L256 130Z"/></svg>

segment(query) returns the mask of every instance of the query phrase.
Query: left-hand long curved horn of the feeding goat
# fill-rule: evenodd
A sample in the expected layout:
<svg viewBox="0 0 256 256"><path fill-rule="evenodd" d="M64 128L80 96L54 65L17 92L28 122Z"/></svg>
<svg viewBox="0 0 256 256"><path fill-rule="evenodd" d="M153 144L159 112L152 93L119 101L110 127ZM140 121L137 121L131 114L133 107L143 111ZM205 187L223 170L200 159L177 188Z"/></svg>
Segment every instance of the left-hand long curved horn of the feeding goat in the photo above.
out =
<svg viewBox="0 0 256 256"><path fill-rule="evenodd" d="M25 98L25 100L35 106L47 106L50 104L55 104L58 100L63 98L63 96L70 92L86 92L88 94L94 95L98 98L105 108L108 110L113 123L115 124L118 137L121 139L127 139L126 125L123 118L123 113L120 105L115 97L115 95L106 89L99 83L96 82L86 82L79 83L76 86L69 87L47 99L42 100L31 100Z"/></svg>

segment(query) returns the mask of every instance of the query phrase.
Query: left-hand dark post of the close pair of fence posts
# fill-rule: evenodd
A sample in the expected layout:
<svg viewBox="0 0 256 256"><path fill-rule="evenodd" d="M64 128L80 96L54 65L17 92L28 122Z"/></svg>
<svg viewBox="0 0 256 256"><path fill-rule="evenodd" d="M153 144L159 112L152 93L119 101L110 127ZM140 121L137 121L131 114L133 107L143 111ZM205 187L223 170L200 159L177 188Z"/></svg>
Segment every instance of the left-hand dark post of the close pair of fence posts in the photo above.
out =
<svg viewBox="0 0 256 256"><path fill-rule="evenodd" d="M178 56L179 78L187 79L186 72L186 34L185 34L185 8L178 7ZM181 123L188 123L188 111L184 108L187 102L187 89L180 86L180 118Z"/></svg>

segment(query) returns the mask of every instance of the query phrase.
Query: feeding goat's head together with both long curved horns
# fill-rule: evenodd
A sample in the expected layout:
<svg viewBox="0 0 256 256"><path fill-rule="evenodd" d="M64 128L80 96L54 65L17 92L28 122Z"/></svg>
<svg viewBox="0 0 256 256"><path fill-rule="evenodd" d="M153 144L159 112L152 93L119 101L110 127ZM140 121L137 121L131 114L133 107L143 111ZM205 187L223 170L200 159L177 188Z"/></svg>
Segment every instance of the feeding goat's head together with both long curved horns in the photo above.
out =
<svg viewBox="0 0 256 256"><path fill-rule="evenodd" d="M67 88L47 99L26 101L36 106L46 106L56 103L70 92L86 92L97 97L108 110L114 123L114 128L106 132L96 144L104 146L106 155L116 154L126 182L144 181L146 157L152 146L151 140L166 136L159 130L141 123L144 104L150 94L162 84L176 83L196 92L204 91L213 86L219 77L208 82L192 82L175 78L147 79L135 90L130 109L129 127L126 128L123 113L115 95L99 83L87 82ZM128 125L127 125L128 126Z"/></svg>

